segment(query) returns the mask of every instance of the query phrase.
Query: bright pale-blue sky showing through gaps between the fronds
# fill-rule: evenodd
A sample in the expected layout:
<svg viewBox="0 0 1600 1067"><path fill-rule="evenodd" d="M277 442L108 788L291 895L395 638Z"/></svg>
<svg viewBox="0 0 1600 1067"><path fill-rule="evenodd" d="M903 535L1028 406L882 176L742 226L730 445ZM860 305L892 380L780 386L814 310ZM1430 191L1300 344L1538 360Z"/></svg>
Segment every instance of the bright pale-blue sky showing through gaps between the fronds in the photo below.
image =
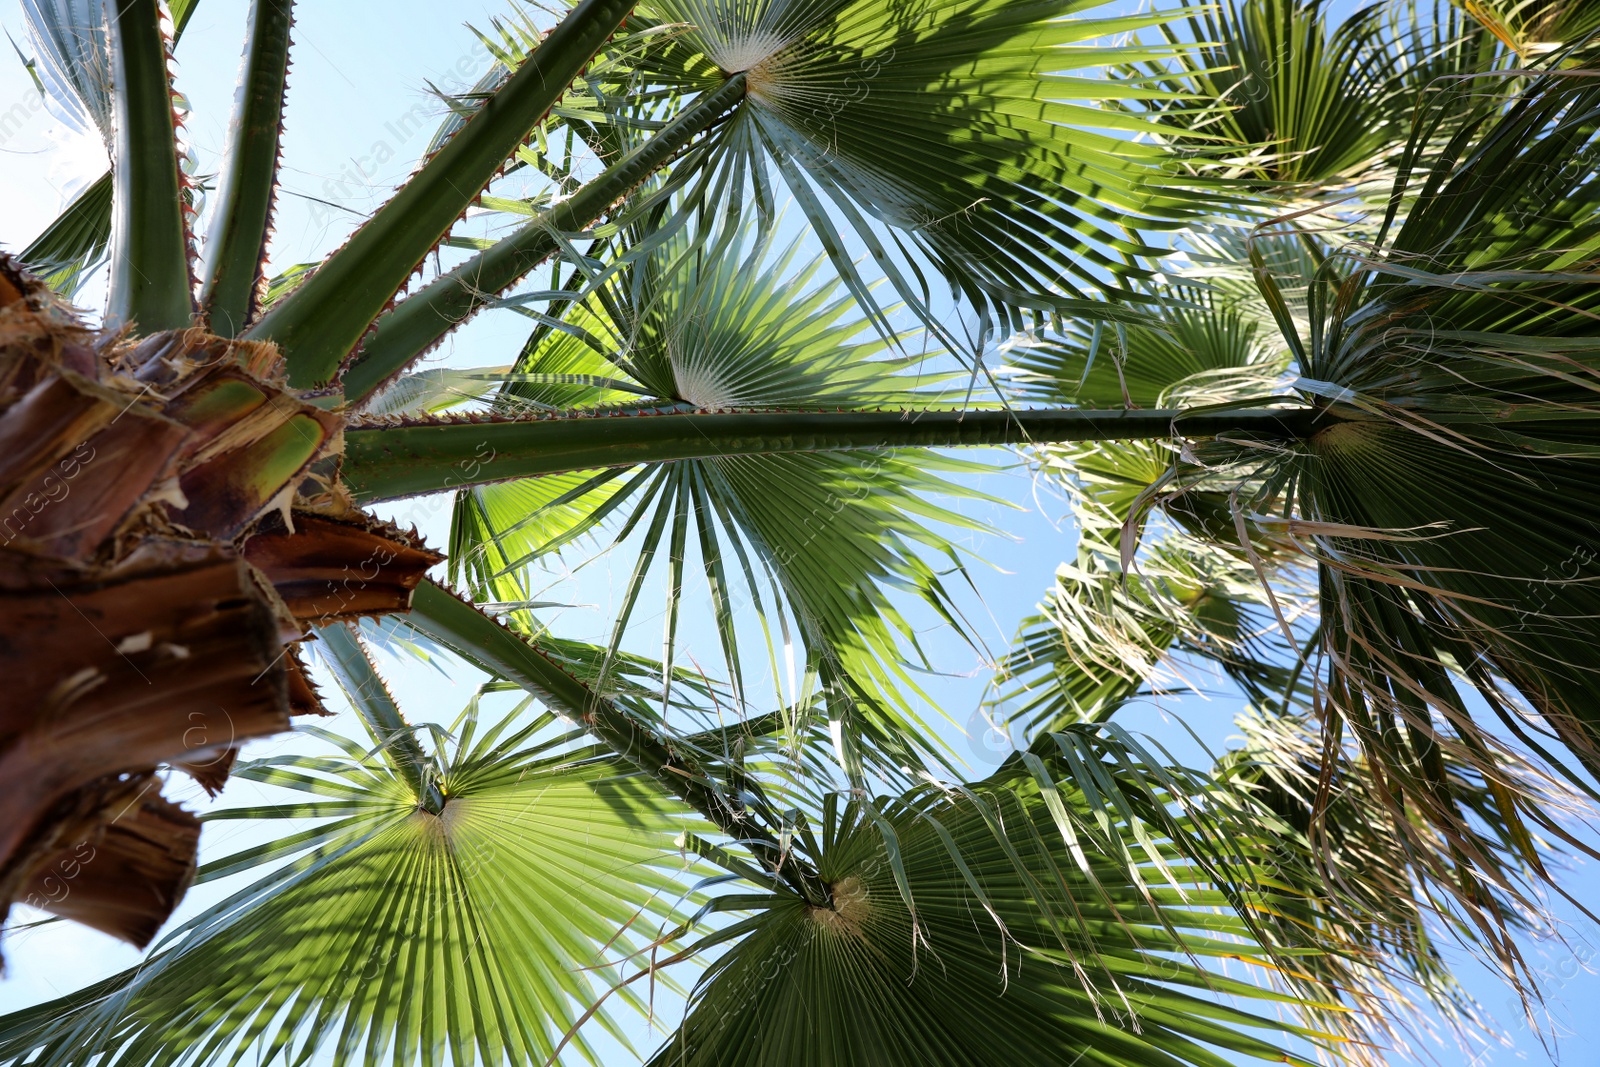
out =
<svg viewBox="0 0 1600 1067"><path fill-rule="evenodd" d="M362 214L410 173L443 114L427 83L446 91L461 90L483 74L488 53L466 22L486 26L506 11L507 3L322 0L298 5L274 270L331 251ZM245 8L245 0L203 0L179 46L179 90L192 106L186 138L195 150L200 173L216 170L224 147ZM18 0L0 0L0 26L27 50ZM70 130L42 107L21 62L5 46L0 54L0 248L18 251L27 245L104 166L98 133ZM99 293L91 288L83 296L94 301ZM525 334L525 320L509 312L486 314L446 342L435 358L458 366L504 365ZM989 522L995 533L955 536L976 557L973 574L982 601L973 605L974 622L990 649L1000 651L1050 584L1056 563L1072 555L1072 528L1064 518L1064 502L1035 491L1026 472L1013 469L970 482L1016 506L963 506ZM440 498L402 506L392 514L414 522L435 545L445 542L448 515ZM626 571L627 557L622 560L618 566ZM622 577L626 573L613 581L608 563L600 560L555 585L547 598L576 605L562 613L558 630L574 638L602 640ZM650 629L651 621L643 622ZM926 622L931 627L931 621ZM654 632L659 641L659 621ZM947 734L962 752L973 753L976 768L992 765L998 758L994 752L960 736L960 729L978 726L973 709L982 688L981 656L947 633L930 632L926 641L934 661L952 672L928 681L930 693L950 715ZM720 659L715 633L699 616L688 621L680 648L680 661L698 656L710 665ZM654 649L646 646L642 651ZM386 664L386 670L397 681L413 720L453 718L482 680L464 665L451 665L448 678L414 664L392 662ZM325 691L330 688L325 686ZM1181 755L1197 753L1174 721L1176 709L1171 702L1162 707L1150 702L1130 713L1128 721L1158 736ZM1206 744L1221 745L1238 704L1226 696L1186 699L1181 710ZM341 717L334 728L354 729L347 718ZM250 749L250 755L285 749L304 750L304 741L261 742ZM176 787L174 792L202 806L195 789ZM250 785L235 782L222 801L248 798ZM235 824L210 825L202 843L203 856L232 851L240 843L238 833L248 830ZM1570 885L1586 901L1600 904L1600 877L1592 867L1576 869ZM211 897L210 893L194 893L179 915L194 913ZM1522 1022L1509 992L1493 976L1464 963L1462 976L1469 989L1499 1019L1507 1040L1507 1045L1483 1049L1470 1061L1478 1067L1600 1064L1600 1011L1595 1009L1600 1006L1600 977L1582 966L1582 960L1595 955L1600 937L1570 907L1557 910L1573 920L1566 931L1571 947L1525 947L1534 968L1547 979L1552 998L1547 1022L1555 1033L1557 1056L1552 1059ZM24 907L13 910L13 921L37 918L38 913ZM10 933L3 950L6 971L0 981L0 1011L58 997L139 960L139 953L115 941L62 923ZM659 1033L648 1035L643 1024L634 1030L642 1051L648 1053L659 1041ZM1454 1048L1437 1049L1437 1057L1443 1064L1462 1062ZM614 1061L608 1057L608 1062L630 1061L618 1049Z"/></svg>

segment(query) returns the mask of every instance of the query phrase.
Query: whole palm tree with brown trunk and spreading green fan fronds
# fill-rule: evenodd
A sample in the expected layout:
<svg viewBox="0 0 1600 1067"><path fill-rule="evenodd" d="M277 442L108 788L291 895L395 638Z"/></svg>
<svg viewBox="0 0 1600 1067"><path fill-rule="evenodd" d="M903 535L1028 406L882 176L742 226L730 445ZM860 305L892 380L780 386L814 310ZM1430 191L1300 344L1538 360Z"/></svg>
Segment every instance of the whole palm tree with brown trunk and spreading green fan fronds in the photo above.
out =
<svg viewBox="0 0 1600 1067"><path fill-rule="evenodd" d="M194 2L29 3L114 163L0 283L0 893L144 947L190 880L256 878L0 1057L549 1062L699 961L651 1062L1379 1062L1416 1000L1470 1024L1438 923L1531 979L1510 937L1600 769L1600 88L1573 19L1517 43L1566 8L581 0L502 26L416 173L269 280L291 2L251 5L198 278ZM520 168L552 195L493 195ZM514 226L466 240L472 206ZM61 294L101 258L90 328ZM534 322L515 358L413 371L486 307ZM997 677L1029 745L962 781L898 593L965 630L934 450L995 445L1082 541ZM466 597L366 510L442 491ZM613 637L560 640L538 568L608 528ZM726 683L675 656L699 577ZM763 699L738 601L797 654L728 726ZM496 678L448 729L379 677L395 627ZM234 768L323 710L307 646L368 736ZM1174 654L1258 709L1213 768L1114 718ZM197 875L163 766L318 822Z"/></svg>

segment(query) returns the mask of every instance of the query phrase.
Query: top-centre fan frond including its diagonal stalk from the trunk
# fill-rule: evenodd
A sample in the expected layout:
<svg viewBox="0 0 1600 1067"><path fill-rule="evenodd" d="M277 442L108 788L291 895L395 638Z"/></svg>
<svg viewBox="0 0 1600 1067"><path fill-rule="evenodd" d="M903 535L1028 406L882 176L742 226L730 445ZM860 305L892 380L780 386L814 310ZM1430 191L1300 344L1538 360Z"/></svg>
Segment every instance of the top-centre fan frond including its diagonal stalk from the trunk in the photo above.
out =
<svg viewBox="0 0 1600 1067"><path fill-rule="evenodd" d="M898 328L872 275L963 352L997 320L1021 328L1022 309L1128 317L1083 298L1136 298L1128 280L1150 274L1139 259L1166 251L1155 235L1218 194L1198 195L1206 182L1192 174L1174 178L1170 149L1139 136L1154 126L1128 107L1171 93L1104 77L1112 64L1170 56L1170 45L1134 38L1170 16L1093 18L1096 6L640 5L630 43L613 40L595 64L605 74L586 75L563 98L565 114L557 106L515 152L512 170L539 170L558 195L510 210L515 229L502 237L451 238L478 254L379 318L346 395L370 395L579 242L642 219L661 237L691 218L710 237L718 227L702 226L706 216L720 232L752 218L765 227L784 192L885 336ZM504 51L502 62L515 62L517 48ZM882 150L885 131L894 150ZM605 170L590 176L597 162ZM971 336L946 323L936 275L979 310Z"/></svg>

